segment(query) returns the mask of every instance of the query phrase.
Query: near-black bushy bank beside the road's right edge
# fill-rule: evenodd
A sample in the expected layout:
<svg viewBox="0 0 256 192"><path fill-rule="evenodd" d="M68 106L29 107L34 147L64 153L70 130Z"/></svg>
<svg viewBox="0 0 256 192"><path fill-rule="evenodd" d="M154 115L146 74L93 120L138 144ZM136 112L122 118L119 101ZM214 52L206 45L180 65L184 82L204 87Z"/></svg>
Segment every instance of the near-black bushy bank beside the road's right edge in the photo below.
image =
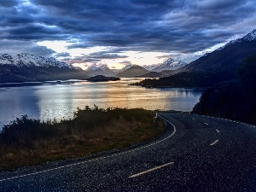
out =
<svg viewBox="0 0 256 192"><path fill-rule="evenodd" d="M256 123L256 55L238 69L239 82L218 84L202 94L192 113Z"/></svg>

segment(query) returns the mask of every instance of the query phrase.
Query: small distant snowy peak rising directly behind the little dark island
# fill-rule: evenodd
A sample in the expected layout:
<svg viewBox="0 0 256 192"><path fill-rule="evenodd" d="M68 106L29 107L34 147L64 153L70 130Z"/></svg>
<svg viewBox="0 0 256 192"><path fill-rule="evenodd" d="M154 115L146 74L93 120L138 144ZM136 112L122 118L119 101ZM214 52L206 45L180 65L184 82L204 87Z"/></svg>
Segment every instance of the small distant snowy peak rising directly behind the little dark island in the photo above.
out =
<svg viewBox="0 0 256 192"><path fill-rule="evenodd" d="M85 70L91 77L96 75L104 75L106 77L112 77L115 73L106 64L92 65Z"/></svg>

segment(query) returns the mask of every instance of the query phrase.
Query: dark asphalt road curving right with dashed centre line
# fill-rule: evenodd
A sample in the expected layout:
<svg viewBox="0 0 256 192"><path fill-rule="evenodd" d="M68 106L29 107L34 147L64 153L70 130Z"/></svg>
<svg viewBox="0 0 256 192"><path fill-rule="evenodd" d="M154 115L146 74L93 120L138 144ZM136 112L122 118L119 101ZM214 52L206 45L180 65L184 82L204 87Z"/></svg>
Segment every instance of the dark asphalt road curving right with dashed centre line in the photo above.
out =
<svg viewBox="0 0 256 192"><path fill-rule="evenodd" d="M0 191L256 191L255 127L160 115L170 123L151 143L0 172Z"/></svg>

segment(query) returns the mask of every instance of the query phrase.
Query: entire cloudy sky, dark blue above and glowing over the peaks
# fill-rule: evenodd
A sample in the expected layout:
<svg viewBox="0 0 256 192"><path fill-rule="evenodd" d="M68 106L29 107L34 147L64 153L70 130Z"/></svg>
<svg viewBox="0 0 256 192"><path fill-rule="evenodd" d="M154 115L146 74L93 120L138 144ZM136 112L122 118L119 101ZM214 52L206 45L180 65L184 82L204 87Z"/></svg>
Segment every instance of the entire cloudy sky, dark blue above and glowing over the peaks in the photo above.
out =
<svg viewBox="0 0 256 192"><path fill-rule="evenodd" d="M189 62L254 28L255 0L0 0L0 53L83 68Z"/></svg>

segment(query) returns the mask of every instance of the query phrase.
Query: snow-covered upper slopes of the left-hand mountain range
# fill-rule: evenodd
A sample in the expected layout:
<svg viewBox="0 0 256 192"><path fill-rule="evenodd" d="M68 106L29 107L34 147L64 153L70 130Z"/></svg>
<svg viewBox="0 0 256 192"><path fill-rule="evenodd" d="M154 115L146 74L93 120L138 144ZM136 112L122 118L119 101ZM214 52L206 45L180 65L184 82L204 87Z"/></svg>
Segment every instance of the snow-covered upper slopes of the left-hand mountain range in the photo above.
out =
<svg viewBox="0 0 256 192"><path fill-rule="evenodd" d="M64 61L57 61L55 58L45 58L38 55L21 53L18 55L0 54L0 65L13 65L16 67L67 67L75 69Z"/></svg>

